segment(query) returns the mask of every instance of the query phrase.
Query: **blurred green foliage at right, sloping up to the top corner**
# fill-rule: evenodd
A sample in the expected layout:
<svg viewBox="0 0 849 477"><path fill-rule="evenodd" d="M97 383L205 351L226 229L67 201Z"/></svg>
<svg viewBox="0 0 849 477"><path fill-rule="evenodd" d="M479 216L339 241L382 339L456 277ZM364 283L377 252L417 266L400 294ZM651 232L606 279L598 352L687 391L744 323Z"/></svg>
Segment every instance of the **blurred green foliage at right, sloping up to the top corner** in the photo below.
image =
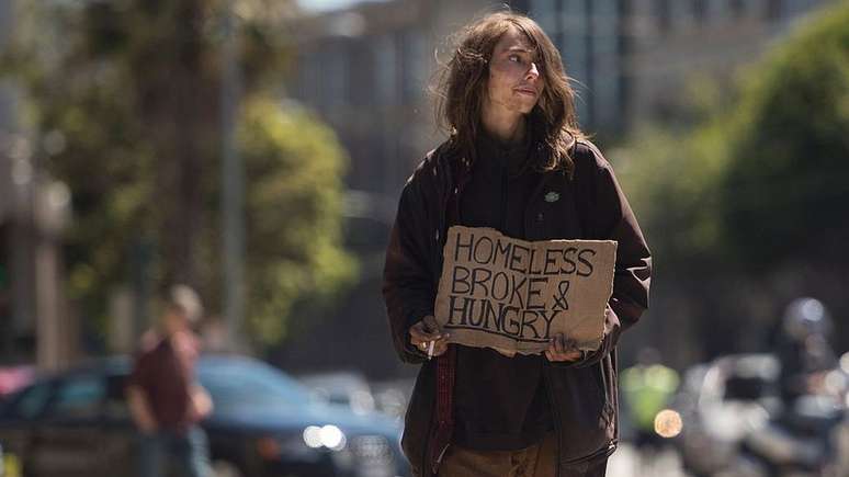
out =
<svg viewBox="0 0 849 477"><path fill-rule="evenodd" d="M834 253L815 243L849 236L847 24L846 2L829 8L751 66L725 101L698 91L702 109L716 104L701 124L633 136L621 179L665 259L680 270L762 270Z"/></svg>

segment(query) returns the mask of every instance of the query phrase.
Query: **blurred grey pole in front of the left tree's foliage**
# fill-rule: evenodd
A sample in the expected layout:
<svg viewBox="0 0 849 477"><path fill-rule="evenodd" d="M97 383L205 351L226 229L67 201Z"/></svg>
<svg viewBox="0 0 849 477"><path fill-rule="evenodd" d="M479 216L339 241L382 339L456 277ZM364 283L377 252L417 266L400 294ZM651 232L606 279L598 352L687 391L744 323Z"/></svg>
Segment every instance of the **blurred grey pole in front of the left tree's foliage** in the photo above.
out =
<svg viewBox="0 0 849 477"><path fill-rule="evenodd" d="M236 124L241 96L238 64L239 36L233 4L224 3L222 49L222 213L224 227L224 317L231 347L241 343L245 318L245 171L236 144Z"/></svg>

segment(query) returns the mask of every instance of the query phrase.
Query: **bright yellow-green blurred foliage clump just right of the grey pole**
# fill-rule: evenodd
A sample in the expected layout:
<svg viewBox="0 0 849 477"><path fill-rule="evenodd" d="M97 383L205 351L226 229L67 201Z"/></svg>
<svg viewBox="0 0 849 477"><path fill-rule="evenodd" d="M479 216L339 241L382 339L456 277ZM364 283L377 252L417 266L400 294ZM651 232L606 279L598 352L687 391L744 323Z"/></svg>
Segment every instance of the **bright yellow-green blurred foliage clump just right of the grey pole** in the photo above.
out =
<svg viewBox="0 0 849 477"><path fill-rule="evenodd" d="M247 105L239 143L250 181L247 196L249 320L257 337L285 336L292 305L321 302L350 283L353 259L340 248L340 171L344 166L331 129L308 113L273 101Z"/></svg>

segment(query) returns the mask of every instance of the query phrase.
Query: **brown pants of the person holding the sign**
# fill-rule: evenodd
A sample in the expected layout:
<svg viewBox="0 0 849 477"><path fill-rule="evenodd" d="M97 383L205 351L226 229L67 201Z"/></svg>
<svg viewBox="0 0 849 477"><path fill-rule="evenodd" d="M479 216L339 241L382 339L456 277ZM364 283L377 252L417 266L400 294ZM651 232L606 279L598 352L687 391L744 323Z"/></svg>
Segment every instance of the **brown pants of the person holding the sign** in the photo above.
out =
<svg viewBox="0 0 849 477"><path fill-rule="evenodd" d="M519 451L474 451L449 446L439 477L555 477L557 438L548 434L541 443ZM561 468L562 477L604 477L607 459L575 468Z"/></svg>

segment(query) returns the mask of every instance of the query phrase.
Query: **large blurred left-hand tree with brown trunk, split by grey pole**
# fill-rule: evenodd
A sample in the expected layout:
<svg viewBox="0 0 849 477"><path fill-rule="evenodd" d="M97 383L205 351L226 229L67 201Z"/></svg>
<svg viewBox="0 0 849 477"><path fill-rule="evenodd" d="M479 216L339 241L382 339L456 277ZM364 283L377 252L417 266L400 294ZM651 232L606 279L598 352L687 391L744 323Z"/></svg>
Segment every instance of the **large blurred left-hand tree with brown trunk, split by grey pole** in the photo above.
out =
<svg viewBox="0 0 849 477"><path fill-rule="evenodd" d="M293 303L351 279L341 249L346 157L275 99L291 1L27 2L7 65L29 96L44 167L72 191L69 291L103 323L133 275L197 287L220 309L219 98L224 8L237 14L246 163L247 315L279 340Z"/></svg>

